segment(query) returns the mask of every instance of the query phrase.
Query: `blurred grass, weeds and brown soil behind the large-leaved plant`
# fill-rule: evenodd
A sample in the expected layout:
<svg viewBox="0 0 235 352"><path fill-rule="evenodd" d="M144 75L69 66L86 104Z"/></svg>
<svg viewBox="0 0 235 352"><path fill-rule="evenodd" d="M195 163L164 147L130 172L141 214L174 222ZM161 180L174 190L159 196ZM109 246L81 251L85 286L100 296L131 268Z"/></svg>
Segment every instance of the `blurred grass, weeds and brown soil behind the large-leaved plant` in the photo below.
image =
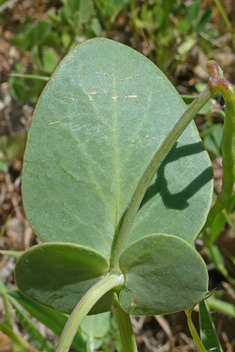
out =
<svg viewBox="0 0 235 352"><path fill-rule="evenodd" d="M225 77L235 84L234 5L234 0L0 0L2 250L23 251L38 243L21 201L22 158L37 99L68 51L94 37L122 42L152 60L189 104L206 85L208 59L216 60ZM223 104L218 96L195 118L213 162L215 193L220 191L222 178ZM210 288L217 287L217 298L210 304L212 316L224 351L229 352L235 350L234 203L235 197L208 230L211 240L208 242L204 233L196 243L208 265ZM2 252L0 278L8 289L15 285L14 263L14 258ZM9 322L4 302L0 302L0 318ZM10 314L13 330L35 344L19 314ZM42 336L55 341L45 325L35 324ZM133 325L140 351L193 350L184 314L133 318ZM104 331L95 349L121 351L112 319ZM16 348L12 341L6 334L0 335L0 351Z"/></svg>

